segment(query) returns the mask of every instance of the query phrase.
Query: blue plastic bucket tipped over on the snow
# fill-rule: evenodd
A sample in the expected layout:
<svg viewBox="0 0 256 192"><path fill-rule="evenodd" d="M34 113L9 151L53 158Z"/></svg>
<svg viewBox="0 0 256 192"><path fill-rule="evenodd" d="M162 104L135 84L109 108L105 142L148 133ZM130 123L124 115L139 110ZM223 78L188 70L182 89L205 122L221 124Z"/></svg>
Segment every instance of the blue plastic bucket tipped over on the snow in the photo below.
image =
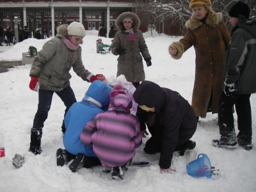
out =
<svg viewBox="0 0 256 192"><path fill-rule="evenodd" d="M199 154L197 159L187 164L188 175L192 177L212 177L211 161L205 154Z"/></svg>

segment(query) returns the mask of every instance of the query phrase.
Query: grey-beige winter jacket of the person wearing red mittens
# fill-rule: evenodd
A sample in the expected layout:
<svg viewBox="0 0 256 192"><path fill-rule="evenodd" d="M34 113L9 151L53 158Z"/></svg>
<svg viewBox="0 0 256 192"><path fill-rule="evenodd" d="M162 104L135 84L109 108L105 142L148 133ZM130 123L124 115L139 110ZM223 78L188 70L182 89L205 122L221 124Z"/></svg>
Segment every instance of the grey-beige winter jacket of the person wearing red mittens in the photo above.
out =
<svg viewBox="0 0 256 192"><path fill-rule="evenodd" d="M58 28L58 35L44 44L33 62L29 76L39 77L40 90L60 92L66 88L70 85L71 67L77 76L90 82L92 74L84 68L81 47L73 51L61 40L68 37L67 26L61 25Z"/></svg>

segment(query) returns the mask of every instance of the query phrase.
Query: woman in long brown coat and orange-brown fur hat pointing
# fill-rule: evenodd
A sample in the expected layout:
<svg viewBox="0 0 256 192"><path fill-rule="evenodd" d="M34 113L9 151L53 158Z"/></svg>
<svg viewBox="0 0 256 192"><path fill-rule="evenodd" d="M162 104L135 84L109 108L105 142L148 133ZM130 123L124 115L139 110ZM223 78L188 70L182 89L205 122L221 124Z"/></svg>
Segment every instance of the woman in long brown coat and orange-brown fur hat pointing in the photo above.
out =
<svg viewBox="0 0 256 192"><path fill-rule="evenodd" d="M207 112L218 113L225 55L230 34L221 13L215 13L210 0L191 0L191 19L186 22L186 35L169 47L172 58L179 60L182 54L194 46L196 51L195 84L192 107L197 119Z"/></svg>

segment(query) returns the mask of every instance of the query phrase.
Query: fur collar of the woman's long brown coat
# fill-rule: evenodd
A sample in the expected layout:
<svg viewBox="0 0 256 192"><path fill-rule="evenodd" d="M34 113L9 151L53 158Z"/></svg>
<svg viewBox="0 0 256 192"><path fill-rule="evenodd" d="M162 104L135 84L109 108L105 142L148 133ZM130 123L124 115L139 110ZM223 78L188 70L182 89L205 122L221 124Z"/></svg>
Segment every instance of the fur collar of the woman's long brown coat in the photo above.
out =
<svg viewBox="0 0 256 192"><path fill-rule="evenodd" d="M222 21L222 13L215 13L211 8L209 9L208 17L206 19L206 24L209 24L212 28L216 28L218 24ZM195 15L193 14L190 19L186 22L185 26L187 29L195 30L202 26L203 23L200 20L196 19Z"/></svg>

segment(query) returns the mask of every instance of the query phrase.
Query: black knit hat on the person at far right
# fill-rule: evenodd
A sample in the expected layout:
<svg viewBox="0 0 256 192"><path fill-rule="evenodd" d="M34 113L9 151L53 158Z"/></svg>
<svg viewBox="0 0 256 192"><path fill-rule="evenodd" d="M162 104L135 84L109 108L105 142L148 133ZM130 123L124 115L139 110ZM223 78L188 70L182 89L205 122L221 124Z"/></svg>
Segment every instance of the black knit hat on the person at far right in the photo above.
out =
<svg viewBox="0 0 256 192"><path fill-rule="evenodd" d="M248 4L242 1L238 1L236 4L234 4L230 8L228 15L230 17L236 17L236 18L238 18L239 15L243 15L246 19L248 19L250 15L250 8Z"/></svg>

